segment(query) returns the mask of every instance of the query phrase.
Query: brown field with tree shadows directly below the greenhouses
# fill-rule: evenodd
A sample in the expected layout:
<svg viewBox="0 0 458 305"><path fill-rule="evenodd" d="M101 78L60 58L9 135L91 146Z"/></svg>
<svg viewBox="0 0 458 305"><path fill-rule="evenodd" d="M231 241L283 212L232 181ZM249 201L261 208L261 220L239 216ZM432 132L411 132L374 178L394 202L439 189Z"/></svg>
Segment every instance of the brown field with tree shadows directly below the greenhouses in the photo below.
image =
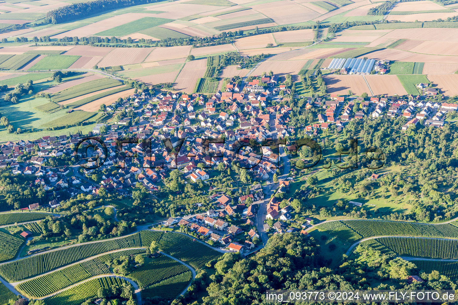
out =
<svg viewBox="0 0 458 305"><path fill-rule="evenodd" d="M348 94L351 90L356 95L361 95L363 92L371 94L362 75L323 75L323 79L328 93Z"/></svg>

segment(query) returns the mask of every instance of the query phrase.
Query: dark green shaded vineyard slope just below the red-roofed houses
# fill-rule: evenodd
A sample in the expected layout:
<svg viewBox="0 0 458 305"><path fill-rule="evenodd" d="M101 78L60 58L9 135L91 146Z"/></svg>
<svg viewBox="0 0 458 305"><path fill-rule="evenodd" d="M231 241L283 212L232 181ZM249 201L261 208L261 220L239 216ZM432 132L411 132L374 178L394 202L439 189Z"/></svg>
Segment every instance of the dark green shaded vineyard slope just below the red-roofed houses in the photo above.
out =
<svg viewBox="0 0 458 305"><path fill-rule="evenodd" d="M178 232L165 233L158 246L161 251L190 264L195 269L221 255L220 252Z"/></svg>

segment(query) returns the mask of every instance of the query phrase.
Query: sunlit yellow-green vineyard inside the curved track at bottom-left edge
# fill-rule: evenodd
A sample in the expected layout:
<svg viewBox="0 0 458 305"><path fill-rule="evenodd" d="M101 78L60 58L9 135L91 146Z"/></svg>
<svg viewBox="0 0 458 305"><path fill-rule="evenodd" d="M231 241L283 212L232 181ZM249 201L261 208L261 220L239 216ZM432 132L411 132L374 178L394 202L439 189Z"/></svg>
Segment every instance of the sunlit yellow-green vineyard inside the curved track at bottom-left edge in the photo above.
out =
<svg viewBox="0 0 458 305"><path fill-rule="evenodd" d="M46 299L46 305L80 305L87 299L97 296L100 287L109 288L111 285L121 286L123 283L129 284L123 278L93 278Z"/></svg>

